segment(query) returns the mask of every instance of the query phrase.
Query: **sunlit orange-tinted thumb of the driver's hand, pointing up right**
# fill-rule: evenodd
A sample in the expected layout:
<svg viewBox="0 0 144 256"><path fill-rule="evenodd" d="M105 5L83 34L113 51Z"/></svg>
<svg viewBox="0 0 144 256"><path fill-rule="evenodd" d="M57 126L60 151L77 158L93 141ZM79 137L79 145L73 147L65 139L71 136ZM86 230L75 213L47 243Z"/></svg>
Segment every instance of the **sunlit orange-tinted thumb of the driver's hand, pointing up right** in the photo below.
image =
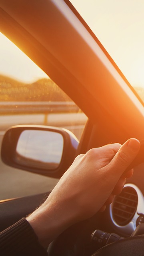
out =
<svg viewBox="0 0 144 256"><path fill-rule="evenodd" d="M128 168L131 162L134 160L140 150L140 142L134 138L127 140L115 154L114 158L110 162L110 168L114 172L122 175L122 173Z"/></svg>

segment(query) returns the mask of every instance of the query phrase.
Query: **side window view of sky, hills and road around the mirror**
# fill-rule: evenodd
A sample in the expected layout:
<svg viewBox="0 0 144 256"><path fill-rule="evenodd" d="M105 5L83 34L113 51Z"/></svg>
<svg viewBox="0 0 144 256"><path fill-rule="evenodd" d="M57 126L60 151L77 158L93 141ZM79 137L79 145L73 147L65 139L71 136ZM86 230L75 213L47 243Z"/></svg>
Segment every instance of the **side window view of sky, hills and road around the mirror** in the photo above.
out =
<svg viewBox="0 0 144 256"><path fill-rule="evenodd" d="M2 33L0 56L0 145L5 130L18 124L63 127L80 140L86 115ZM48 192L57 181L0 160L0 200Z"/></svg>

